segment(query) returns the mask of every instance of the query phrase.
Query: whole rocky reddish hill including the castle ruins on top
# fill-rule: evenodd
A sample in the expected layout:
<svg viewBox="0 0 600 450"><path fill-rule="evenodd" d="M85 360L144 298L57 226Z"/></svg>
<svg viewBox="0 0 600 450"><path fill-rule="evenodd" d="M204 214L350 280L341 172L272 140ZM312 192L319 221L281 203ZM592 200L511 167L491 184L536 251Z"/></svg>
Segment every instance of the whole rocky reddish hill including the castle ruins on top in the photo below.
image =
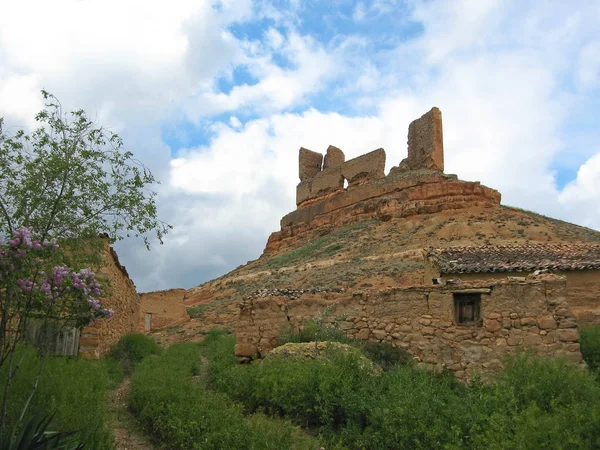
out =
<svg viewBox="0 0 600 450"><path fill-rule="evenodd" d="M443 173L441 113L411 123L408 158L384 174L382 149L345 161L300 149L297 209L265 251L187 291L192 317L159 332L196 340L233 328L238 303L259 290L366 290L423 282L423 249L528 242L600 242L600 232L500 204L500 193ZM347 182L347 187L344 187Z"/></svg>

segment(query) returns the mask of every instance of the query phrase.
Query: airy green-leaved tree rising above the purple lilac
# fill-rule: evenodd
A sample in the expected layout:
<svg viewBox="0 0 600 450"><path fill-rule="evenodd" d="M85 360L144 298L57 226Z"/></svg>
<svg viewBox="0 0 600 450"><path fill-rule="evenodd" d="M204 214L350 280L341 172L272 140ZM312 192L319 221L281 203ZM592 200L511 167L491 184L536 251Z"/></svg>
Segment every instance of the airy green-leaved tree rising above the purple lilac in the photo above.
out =
<svg viewBox="0 0 600 450"><path fill-rule="evenodd" d="M157 219L152 173L123 149L116 133L96 126L83 110L63 113L60 102L42 91L45 108L31 134L2 131L0 120L0 232L20 226L40 241L112 241L148 233L159 242L170 225Z"/></svg>

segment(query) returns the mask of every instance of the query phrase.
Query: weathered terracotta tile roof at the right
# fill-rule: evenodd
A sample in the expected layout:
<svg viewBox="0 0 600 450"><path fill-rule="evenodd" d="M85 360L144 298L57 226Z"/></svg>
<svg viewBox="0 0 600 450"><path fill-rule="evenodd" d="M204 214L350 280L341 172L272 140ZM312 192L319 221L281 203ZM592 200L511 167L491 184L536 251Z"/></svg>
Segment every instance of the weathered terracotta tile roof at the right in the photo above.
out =
<svg viewBox="0 0 600 450"><path fill-rule="evenodd" d="M600 269L600 245L524 244L430 249L442 273Z"/></svg>

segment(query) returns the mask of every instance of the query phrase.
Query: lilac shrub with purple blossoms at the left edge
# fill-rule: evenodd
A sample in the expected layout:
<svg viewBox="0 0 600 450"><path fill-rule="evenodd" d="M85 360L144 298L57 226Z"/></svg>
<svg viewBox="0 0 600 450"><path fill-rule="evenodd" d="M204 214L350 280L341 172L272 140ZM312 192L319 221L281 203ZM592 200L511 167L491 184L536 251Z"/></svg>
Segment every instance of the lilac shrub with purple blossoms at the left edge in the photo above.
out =
<svg viewBox="0 0 600 450"><path fill-rule="evenodd" d="M25 336L30 319L48 327L83 327L113 312L98 297L100 283L88 269L75 271L58 260L56 240L36 240L31 229L21 227L11 239L0 242L0 369L6 364L6 382L0 406L0 435L5 431L7 404L11 385L23 362L15 358L19 342ZM43 349L40 349L42 357ZM42 360L43 361L43 360ZM40 365L31 393L22 408L19 422L37 389L42 373Z"/></svg>

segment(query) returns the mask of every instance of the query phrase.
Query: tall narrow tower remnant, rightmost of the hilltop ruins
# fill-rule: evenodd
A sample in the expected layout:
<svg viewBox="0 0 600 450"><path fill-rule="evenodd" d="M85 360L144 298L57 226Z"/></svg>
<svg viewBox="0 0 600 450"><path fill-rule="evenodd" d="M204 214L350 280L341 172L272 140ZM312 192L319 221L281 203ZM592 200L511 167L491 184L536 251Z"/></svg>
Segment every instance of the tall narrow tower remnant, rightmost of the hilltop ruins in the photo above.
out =
<svg viewBox="0 0 600 450"><path fill-rule="evenodd" d="M430 169L444 171L444 138L442 112L432 108L408 127L408 158L401 170Z"/></svg>

